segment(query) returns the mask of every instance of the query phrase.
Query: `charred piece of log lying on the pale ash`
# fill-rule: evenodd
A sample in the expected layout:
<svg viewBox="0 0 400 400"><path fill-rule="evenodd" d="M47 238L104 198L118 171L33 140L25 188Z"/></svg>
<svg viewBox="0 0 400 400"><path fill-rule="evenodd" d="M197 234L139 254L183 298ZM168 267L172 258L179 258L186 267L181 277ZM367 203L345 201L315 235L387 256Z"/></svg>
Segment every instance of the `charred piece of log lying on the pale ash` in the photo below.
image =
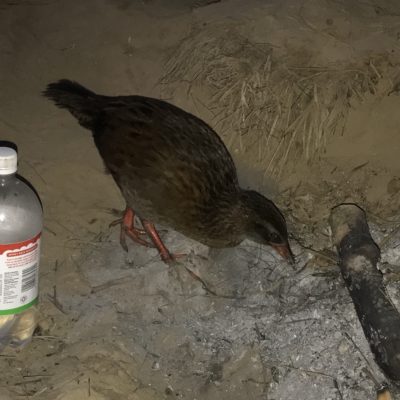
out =
<svg viewBox="0 0 400 400"><path fill-rule="evenodd" d="M365 212L354 204L342 204L332 209L329 222L342 276L375 360L388 378L399 381L400 314L377 268L380 249Z"/></svg>

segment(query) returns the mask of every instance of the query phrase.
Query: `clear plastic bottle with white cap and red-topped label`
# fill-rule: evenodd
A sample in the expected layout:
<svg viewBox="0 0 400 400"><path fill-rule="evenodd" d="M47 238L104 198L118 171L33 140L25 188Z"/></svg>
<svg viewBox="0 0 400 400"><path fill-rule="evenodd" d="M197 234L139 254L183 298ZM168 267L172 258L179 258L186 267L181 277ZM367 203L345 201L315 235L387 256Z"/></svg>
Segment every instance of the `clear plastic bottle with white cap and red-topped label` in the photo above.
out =
<svg viewBox="0 0 400 400"><path fill-rule="evenodd" d="M38 316L42 206L16 172L16 151L0 147L0 351L30 342Z"/></svg>

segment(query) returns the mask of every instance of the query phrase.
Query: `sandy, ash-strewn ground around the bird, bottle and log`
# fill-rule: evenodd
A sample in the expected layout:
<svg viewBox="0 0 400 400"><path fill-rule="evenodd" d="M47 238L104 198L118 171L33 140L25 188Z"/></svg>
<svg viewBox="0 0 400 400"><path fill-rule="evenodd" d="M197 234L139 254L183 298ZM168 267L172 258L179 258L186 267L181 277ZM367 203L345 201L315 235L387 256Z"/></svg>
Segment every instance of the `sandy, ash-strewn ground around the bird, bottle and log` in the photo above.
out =
<svg viewBox="0 0 400 400"><path fill-rule="evenodd" d="M1 138L18 144L20 173L45 209L40 329L23 351L1 355L0 398L375 398L385 378L335 262L305 247L331 248L330 207L356 201L384 243L390 293L399 301L400 6L166 4L0 4ZM279 179L265 176L270 158L254 162L251 135L241 148L229 130L221 134L232 144L243 185L270 194L285 210L296 238L295 270L250 242L216 252L174 232L165 234L167 243L191 254L176 269L133 244L125 254L117 230L108 227L124 202L90 134L40 96L51 81L75 79L100 93L166 98L215 126L207 86L192 85L188 95L187 82L160 84L185 38L215 32L268 43L278 64L367 66L375 77L374 90L350 100L344 130L312 160L294 153Z"/></svg>

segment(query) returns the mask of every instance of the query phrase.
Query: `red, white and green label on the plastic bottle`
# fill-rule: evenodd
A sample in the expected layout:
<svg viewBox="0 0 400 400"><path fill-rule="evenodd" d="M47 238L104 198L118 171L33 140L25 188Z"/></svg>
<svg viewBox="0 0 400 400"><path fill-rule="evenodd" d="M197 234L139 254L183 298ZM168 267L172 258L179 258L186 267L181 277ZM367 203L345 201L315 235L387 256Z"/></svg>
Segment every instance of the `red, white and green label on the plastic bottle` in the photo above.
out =
<svg viewBox="0 0 400 400"><path fill-rule="evenodd" d="M37 303L40 236L0 244L0 315L17 314Z"/></svg>

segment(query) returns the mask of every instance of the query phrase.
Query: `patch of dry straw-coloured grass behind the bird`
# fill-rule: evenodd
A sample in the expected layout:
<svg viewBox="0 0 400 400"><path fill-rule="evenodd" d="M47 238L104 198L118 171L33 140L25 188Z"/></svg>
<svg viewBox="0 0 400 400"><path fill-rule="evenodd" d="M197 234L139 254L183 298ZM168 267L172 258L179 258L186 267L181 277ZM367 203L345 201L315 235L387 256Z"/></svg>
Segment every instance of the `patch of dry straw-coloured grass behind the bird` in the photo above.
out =
<svg viewBox="0 0 400 400"><path fill-rule="evenodd" d="M374 93L379 78L372 64L294 66L275 57L272 45L220 27L183 40L161 83L186 84L188 95L207 104L211 125L231 150L250 153L266 175L280 176L289 158L318 157L327 138L343 130L350 99Z"/></svg>

